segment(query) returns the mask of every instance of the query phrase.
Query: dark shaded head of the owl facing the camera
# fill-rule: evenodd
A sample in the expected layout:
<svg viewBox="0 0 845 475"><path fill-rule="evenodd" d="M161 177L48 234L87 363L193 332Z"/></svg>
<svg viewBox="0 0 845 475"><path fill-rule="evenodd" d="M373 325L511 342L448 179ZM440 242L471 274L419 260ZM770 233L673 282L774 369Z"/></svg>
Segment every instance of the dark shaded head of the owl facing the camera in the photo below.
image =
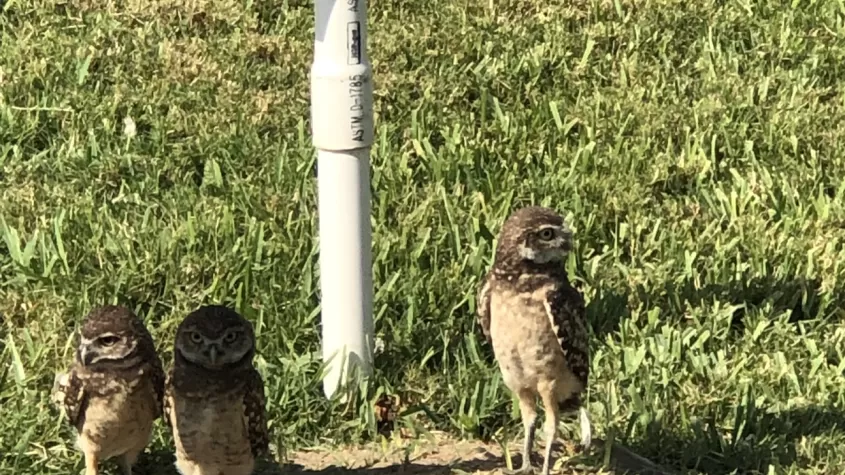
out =
<svg viewBox="0 0 845 475"><path fill-rule="evenodd" d="M255 333L234 310L209 305L190 313L176 330L175 357L210 370L252 362Z"/></svg>

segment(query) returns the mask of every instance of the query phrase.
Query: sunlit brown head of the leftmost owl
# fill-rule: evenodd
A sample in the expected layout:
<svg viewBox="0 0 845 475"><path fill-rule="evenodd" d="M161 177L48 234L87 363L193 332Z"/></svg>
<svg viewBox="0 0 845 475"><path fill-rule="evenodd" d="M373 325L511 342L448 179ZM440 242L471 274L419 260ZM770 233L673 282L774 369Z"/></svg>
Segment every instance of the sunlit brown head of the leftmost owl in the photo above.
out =
<svg viewBox="0 0 845 475"><path fill-rule="evenodd" d="M106 305L85 317L76 360L89 368L128 367L150 347L152 337L141 319L126 307Z"/></svg>

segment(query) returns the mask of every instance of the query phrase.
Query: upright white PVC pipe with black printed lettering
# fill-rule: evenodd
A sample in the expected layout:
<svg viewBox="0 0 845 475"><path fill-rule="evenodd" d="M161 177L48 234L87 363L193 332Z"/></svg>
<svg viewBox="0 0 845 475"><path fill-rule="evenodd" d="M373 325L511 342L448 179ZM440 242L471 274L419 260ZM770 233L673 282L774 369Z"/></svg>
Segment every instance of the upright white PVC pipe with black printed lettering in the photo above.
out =
<svg viewBox="0 0 845 475"><path fill-rule="evenodd" d="M315 0L311 130L317 148L323 390L331 397L350 365L372 371L370 249L372 66L366 0Z"/></svg>

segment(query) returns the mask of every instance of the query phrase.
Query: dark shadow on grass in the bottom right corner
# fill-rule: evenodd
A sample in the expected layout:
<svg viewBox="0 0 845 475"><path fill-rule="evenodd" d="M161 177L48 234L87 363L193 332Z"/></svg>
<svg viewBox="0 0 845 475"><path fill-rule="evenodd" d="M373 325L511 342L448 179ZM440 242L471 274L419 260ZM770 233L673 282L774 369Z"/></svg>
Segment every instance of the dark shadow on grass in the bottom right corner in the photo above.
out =
<svg viewBox="0 0 845 475"><path fill-rule="evenodd" d="M666 467L707 475L767 473L774 467L810 466L802 460L797 446L804 437L839 433L845 436L845 412L833 408L810 407L780 413L755 413L740 408L743 427L717 430L711 420L686 436L665 427L653 426L631 448Z"/></svg>

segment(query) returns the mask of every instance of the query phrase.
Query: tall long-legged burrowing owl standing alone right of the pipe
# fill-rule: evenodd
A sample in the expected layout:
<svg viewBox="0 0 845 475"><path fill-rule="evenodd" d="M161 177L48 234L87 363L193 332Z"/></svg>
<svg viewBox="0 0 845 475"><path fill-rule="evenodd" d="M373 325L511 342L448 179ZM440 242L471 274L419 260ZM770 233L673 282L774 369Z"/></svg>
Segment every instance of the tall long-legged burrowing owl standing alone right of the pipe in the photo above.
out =
<svg viewBox="0 0 845 475"><path fill-rule="evenodd" d="M590 371L584 300L563 267L571 249L572 232L559 214L522 208L505 221L492 269L478 292L479 324L505 385L519 398L525 426L522 467L511 473L533 472L537 396L546 409L544 475L561 413L580 409L582 444L590 446L589 415L580 397Z"/></svg>

